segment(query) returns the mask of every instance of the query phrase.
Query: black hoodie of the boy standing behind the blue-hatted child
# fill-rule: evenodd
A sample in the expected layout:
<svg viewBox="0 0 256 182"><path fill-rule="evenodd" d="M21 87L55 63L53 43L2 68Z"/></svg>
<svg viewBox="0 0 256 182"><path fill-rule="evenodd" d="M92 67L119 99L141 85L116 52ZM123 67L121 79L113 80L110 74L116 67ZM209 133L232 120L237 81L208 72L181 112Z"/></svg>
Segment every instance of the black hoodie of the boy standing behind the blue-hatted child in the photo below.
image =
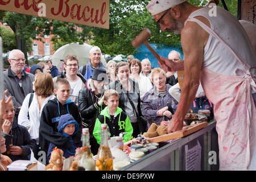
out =
<svg viewBox="0 0 256 182"><path fill-rule="evenodd" d="M63 114L71 114L79 123L79 131L73 135L73 141L79 143L81 140L81 117L76 104L68 100L62 105L57 98L49 100L44 106L40 118L39 127L39 145L44 151L48 151L49 142L58 146L68 148L70 145L69 139L59 133L57 126L60 116Z"/></svg>

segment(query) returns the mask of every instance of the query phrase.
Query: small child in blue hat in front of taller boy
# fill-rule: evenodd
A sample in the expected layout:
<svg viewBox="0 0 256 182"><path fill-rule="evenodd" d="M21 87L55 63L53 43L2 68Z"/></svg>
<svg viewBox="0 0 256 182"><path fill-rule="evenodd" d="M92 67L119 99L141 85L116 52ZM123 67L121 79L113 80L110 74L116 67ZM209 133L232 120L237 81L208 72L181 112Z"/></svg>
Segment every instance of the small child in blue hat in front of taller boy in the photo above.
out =
<svg viewBox="0 0 256 182"><path fill-rule="evenodd" d="M72 136L79 131L79 124L75 121L71 114L64 114L60 116L59 125L57 126L57 130L59 133L63 134L65 137L69 138L70 145L67 148L61 147L59 145L49 143L47 158L48 160L51 158L52 150L57 147L63 150L63 156L67 159L69 156L75 156L76 147L81 147L81 143L79 145L75 145L72 140Z"/></svg>

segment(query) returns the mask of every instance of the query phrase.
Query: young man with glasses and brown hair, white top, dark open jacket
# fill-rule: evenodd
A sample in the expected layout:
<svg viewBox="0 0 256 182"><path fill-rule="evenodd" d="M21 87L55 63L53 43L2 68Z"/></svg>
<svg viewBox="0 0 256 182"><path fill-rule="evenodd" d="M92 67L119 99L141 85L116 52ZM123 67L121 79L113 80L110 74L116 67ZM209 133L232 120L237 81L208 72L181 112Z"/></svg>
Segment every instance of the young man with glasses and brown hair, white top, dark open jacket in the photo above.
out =
<svg viewBox="0 0 256 182"><path fill-rule="evenodd" d="M65 70L54 77L53 82L55 83L58 78L66 78L71 88L69 98L78 106L79 91L84 88L86 79L78 72L79 59L76 55L68 54L65 56L63 63Z"/></svg>

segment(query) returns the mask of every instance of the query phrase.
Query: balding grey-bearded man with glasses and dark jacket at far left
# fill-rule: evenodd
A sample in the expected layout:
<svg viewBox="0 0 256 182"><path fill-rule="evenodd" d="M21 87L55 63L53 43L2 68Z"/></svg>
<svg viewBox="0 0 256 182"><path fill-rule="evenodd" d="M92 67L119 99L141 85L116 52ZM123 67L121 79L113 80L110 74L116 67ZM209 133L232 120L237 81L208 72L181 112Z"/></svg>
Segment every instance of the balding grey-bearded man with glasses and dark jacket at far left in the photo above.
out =
<svg viewBox="0 0 256 182"><path fill-rule="evenodd" d="M7 97L13 96L13 104L16 114L19 114L24 98L28 93L32 93L34 75L25 72L24 53L19 49L13 49L9 54L10 67L3 72L5 80L5 90L8 90Z"/></svg>

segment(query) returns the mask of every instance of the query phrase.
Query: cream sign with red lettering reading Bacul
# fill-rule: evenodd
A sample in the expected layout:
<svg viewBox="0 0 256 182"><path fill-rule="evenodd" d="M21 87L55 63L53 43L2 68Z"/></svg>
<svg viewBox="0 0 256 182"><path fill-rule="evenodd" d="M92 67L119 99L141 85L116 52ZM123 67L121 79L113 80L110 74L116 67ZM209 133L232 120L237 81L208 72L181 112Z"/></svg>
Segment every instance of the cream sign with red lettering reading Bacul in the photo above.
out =
<svg viewBox="0 0 256 182"><path fill-rule="evenodd" d="M0 10L109 29L109 0L0 0Z"/></svg>

